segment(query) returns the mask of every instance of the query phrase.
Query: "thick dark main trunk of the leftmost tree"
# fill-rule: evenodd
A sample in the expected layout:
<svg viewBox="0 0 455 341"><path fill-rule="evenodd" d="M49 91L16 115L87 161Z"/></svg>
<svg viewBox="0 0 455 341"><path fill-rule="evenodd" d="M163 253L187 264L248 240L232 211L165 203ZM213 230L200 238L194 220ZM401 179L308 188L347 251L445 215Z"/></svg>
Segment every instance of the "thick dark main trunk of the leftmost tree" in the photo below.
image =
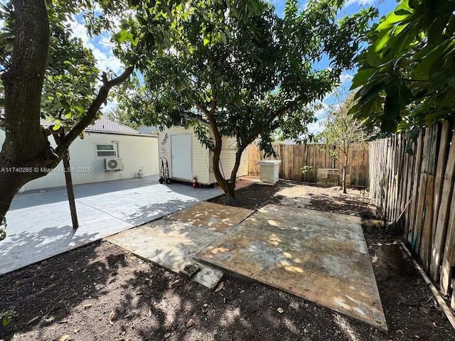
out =
<svg viewBox="0 0 455 341"><path fill-rule="evenodd" d="M44 0L14 0L16 24L5 91L6 139L0 153L0 222L19 188L44 174L57 157L40 124L41 91L48 60L49 21Z"/></svg>

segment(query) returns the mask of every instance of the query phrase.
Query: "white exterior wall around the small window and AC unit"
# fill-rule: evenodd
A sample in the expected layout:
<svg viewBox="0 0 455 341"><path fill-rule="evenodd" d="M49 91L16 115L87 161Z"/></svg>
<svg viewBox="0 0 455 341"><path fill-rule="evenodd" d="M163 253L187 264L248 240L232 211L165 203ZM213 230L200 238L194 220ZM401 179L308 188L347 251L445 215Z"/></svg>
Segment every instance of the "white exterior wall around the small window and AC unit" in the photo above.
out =
<svg viewBox="0 0 455 341"><path fill-rule="evenodd" d="M0 144L5 139L0 130ZM55 146L52 138L50 143ZM114 142L112 142L114 141ZM95 144L117 144L118 157L122 159L123 171L105 171L105 157L97 157ZM96 183L122 178L136 178L139 168L144 175L155 175L158 168L158 139L155 136L121 135L87 132L84 139L76 139L70 146L70 166L73 184ZM43 178L23 186L23 190L38 190L65 186L63 163Z"/></svg>

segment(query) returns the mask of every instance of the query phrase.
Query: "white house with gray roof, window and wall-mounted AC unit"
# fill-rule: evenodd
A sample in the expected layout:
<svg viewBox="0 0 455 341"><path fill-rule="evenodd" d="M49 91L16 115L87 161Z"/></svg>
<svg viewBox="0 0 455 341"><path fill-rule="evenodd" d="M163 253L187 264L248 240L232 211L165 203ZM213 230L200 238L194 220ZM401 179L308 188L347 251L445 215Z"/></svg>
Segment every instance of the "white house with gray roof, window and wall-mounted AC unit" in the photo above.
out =
<svg viewBox="0 0 455 341"><path fill-rule="evenodd" d="M0 130L0 144L5 133ZM50 144L55 146L52 136ZM70 148L73 184L96 183L107 180L156 175L158 168L158 137L140 134L128 126L102 117L87 126L83 139L76 139ZM23 186L23 190L37 190L65 186L63 163L43 178Z"/></svg>

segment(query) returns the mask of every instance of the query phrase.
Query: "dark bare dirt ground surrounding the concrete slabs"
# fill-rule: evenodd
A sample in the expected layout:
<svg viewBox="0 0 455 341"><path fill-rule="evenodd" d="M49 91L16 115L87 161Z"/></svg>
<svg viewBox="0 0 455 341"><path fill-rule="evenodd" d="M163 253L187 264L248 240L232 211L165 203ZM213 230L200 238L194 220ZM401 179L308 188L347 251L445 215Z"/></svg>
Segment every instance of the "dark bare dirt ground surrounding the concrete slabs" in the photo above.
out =
<svg viewBox="0 0 455 341"><path fill-rule="evenodd" d="M368 224L374 212L365 195L280 181L242 188L237 200L251 209L273 202L363 217L389 331L231 276L208 291L101 241L0 276L0 314L14 310L0 340L455 340L392 244L400 233Z"/></svg>

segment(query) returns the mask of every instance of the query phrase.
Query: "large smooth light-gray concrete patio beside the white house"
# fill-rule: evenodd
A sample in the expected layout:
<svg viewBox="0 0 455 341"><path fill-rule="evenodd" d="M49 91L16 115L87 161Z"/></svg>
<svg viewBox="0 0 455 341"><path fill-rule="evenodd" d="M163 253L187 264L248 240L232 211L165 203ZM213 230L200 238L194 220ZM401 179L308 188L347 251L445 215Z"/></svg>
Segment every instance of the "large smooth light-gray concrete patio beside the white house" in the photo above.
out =
<svg viewBox="0 0 455 341"><path fill-rule="evenodd" d="M14 197L0 242L0 274L163 217L223 193L213 188L159 184L159 176L75 186L78 229L65 188Z"/></svg>

